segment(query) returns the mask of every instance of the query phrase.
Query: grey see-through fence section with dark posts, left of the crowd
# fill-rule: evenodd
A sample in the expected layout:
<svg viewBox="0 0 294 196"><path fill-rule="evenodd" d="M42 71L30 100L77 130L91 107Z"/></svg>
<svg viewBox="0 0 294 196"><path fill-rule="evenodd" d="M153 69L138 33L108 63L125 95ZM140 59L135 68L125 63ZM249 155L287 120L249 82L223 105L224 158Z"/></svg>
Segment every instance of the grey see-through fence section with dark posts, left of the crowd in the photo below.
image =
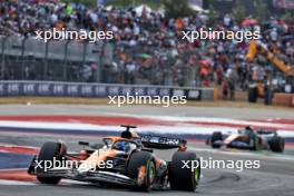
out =
<svg viewBox="0 0 294 196"><path fill-rule="evenodd" d="M104 55L110 46L101 41L45 42L35 37L0 36L0 79L82 81L82 65L111 60ZM99 67L95 68L92 80L99 81Z"/></svg>

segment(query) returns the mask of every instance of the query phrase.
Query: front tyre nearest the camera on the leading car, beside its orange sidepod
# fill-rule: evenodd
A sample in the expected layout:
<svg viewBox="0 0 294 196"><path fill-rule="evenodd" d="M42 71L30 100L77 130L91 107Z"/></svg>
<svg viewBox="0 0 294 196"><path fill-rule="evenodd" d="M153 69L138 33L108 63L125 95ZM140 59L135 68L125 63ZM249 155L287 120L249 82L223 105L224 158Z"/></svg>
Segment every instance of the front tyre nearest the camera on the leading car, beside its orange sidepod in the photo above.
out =
<svg viewBox="0 0 294 196"><path fill-rule="evenodd" d="M144 180L138 184L140 190L149 192L156 177L156 165L153 155L148 151L135 151L130 155L128 161L128 175L138 182L139 169L146 168Z"/></svg>

